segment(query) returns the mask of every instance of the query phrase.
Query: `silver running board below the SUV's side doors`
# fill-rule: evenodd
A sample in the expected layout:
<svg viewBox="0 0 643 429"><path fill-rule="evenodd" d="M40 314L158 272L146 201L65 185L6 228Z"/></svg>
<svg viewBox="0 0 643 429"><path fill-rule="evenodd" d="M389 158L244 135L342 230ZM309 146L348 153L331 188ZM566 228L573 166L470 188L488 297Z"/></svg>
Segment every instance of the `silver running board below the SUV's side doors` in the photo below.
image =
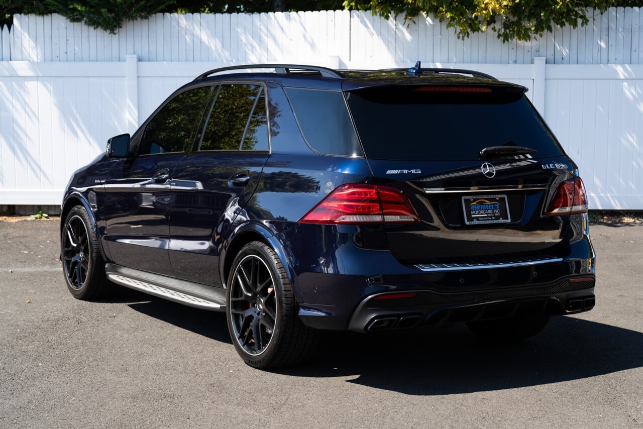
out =
<svg viewBox="0 0 643 429"><path fill-rule="evenodd" d="M224 311L226 307L226 291L223 288L187 282L114 264L105 264L105 274L109 280L125 286L125 288L179 302L186 306L212 311Z"/></svg>

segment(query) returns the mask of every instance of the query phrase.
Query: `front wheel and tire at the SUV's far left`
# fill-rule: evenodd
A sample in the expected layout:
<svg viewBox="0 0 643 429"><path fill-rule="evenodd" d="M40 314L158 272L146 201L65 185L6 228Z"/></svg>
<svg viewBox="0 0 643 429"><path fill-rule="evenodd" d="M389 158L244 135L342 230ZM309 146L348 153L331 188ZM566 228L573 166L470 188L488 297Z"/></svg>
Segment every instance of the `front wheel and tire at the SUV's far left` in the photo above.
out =
<svg viewBox="0 0 643 429"><path fill-rule="evenodd" d="M67 288L75 298L108 298L118 290L105 276L105 260L83 206L69 210L60 237L60 255Z"/></svg>

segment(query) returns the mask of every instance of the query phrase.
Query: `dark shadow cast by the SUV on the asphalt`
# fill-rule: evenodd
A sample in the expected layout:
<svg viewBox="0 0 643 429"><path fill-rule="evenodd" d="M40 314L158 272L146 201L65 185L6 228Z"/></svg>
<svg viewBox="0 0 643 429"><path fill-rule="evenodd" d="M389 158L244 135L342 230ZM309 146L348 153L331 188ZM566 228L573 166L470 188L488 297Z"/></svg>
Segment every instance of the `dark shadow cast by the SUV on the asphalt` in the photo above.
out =
<svg viewBox="0 0 643 429"><path fill-rule="evenodd" d="M224 313L125 288L116 300L231 344ZM556 316L538 336L514 345L481 342L464 324L397 333L326 333L309 363L272 372L302 378L355 376L350 383L431 396L545 385L638 367L643 367L643 333Z"/></svg>

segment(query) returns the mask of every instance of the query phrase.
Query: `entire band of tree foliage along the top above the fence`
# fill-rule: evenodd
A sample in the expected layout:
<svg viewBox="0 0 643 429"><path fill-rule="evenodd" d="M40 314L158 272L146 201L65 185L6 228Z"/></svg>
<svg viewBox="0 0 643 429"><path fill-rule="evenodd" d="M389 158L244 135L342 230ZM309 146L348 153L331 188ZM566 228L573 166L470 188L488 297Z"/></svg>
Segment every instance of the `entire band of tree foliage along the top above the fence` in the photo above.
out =
<svg viewBox="0 0 643 429"><path fill-rule="evenodd" d="M114 33L125 22L156 12L273 12L278 10L372 10L374 15L401 15L413 20L434 14L460 37L493 30L504 41L529 40L553 25L586 25L586 8L643 6L643 0L0 0L0 24L12 14L57 13Z"/></svg>

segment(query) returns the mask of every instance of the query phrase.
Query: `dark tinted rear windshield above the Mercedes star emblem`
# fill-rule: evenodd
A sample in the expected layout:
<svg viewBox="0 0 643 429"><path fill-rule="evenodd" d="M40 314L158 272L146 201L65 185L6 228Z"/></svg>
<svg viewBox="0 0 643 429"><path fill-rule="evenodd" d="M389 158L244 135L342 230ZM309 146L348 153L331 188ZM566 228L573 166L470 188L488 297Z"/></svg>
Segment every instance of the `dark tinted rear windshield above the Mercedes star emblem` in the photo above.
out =
<svg viewBox="0 0 643 429"><path fill-rule="evenodd" d="M481 149L516 145L559 156L556 138L520 88L397 86L347 96L367 158L478 160Z"/></svg>

